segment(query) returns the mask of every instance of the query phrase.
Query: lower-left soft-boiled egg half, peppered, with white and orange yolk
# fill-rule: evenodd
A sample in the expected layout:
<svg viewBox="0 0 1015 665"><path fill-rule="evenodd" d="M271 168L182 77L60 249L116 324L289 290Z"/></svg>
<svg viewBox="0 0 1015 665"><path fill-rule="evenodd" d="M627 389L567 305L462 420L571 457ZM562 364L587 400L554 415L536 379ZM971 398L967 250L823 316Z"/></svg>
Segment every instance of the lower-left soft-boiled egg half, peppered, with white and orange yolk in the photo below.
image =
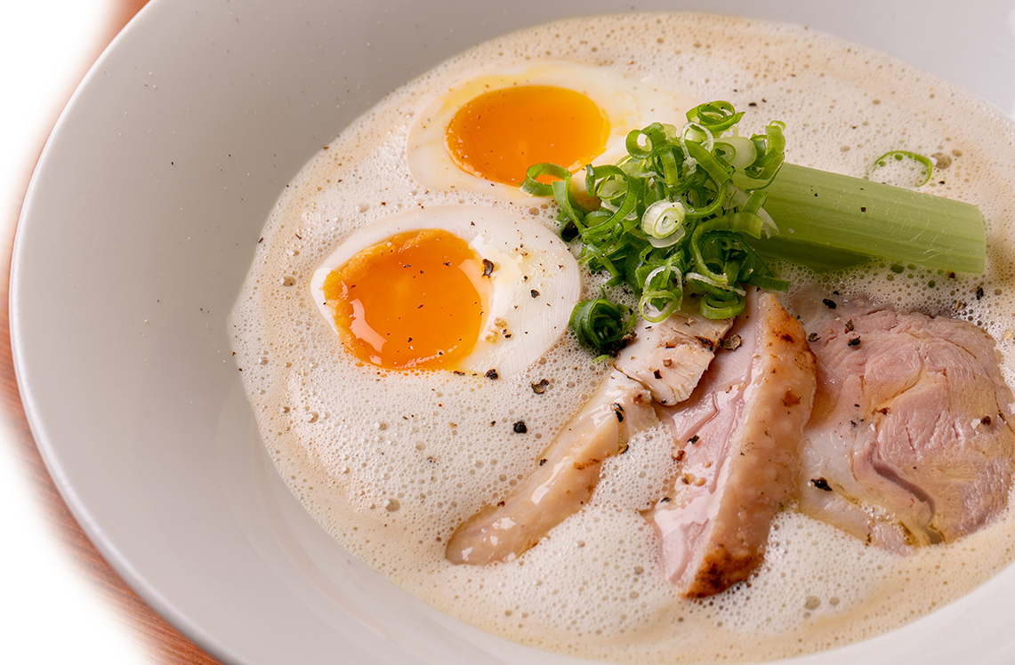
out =
<svg viewBox="0 0 1015 665"><path fill-rule="evenodd" d="M364 363L507 376L567 328L580 277L567 246L536 221L433 206L352 233L314 273L311 290Z"/></svg>

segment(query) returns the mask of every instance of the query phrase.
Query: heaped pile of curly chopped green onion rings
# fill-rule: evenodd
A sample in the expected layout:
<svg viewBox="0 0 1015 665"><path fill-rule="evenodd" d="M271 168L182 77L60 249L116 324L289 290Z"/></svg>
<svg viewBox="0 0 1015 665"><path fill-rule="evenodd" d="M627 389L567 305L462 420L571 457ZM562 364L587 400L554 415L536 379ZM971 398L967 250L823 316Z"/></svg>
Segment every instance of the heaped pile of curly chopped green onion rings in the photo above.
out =
<svg viewBox="0 0 1015 665"><path fill-rule="evenodd" d="M782 124L741 138L734 132L742 116L715 101L689 110L683 128L653 123L630 132L627 157L586 167L586 190L598 199L598 210L578 203L571 174L555 164L532 166L523 190L553 196L561 232L582 243L580 261L607 272L609 286L629 286L646 319L668 316L685 291L705 296L699 305L705 315L726 316L742 309L741 284L788 286L742 238L777 232L761 208L765 196L753 190L782 165ZM557 180L539 182L544 175Z"/></svg>

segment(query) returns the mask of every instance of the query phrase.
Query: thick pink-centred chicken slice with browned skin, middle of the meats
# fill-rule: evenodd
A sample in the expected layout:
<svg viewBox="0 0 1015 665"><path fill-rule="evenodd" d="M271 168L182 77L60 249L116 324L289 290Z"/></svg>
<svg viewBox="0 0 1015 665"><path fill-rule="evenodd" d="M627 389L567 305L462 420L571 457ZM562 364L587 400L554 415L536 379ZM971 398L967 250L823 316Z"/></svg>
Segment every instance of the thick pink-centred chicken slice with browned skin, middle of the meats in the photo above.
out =
<svg viewBox="0 0 1015 665"><path fill-rule="evenodd" d="M760 564L771 519L799 472L801 433L815 390L803 326L768 293L748 294L690 399L670 410L681 471L647 517L666 577L687 597L746 580Z"/></svg>

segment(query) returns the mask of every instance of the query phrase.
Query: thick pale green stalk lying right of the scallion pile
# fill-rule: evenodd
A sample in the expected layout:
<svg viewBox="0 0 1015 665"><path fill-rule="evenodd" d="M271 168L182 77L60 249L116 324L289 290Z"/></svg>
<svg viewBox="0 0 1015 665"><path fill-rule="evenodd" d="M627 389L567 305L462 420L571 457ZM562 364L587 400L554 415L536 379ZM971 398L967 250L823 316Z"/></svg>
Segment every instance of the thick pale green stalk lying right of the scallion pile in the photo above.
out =
<svg viewBox="0 0 1015 665"><path fill-rule="evenodd" d="M960 201L816 168L783 164L763 190L777 236L750 238L764 255L819 270L868 256L957 273L983 273L979 209Z"/></svg>

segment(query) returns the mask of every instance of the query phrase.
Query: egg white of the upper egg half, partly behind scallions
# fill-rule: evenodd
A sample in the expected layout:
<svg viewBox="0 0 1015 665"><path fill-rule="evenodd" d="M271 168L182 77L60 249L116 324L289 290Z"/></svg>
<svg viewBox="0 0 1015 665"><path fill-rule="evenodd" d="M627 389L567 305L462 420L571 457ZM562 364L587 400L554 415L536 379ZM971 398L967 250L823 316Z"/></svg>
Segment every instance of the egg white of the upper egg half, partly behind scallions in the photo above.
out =
<svg viewBox="0 0 1015 665"><path fill-rule="evenodd" d="M563 60L539 60L461 80L415 114L409 128L409 170L423 187L433 190L468 190L510 201L529 195L517 187L494 182L463 171L448 154L445 134L458 110L481 94L520 85L549 85L576 90L592 99L610 123L604 152L594 164L614 163L627 154L627 134L654 122L683 125L685 114L697 102L686 94L657 89L609 67L594 67Z"/></svg>

